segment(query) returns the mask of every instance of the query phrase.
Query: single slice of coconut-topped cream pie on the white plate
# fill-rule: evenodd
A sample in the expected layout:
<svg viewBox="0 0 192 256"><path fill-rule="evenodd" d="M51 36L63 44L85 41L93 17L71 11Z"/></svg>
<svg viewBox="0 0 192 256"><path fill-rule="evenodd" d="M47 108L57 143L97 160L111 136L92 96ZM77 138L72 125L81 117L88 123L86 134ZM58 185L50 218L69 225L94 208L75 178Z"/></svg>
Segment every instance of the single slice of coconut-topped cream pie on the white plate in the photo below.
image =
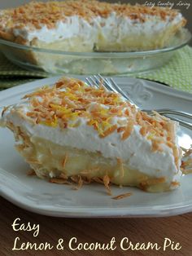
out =
<svg viewBox="0 0 192 256"><path fill-rule="evenodd" d="M63 77L4 108L1 126L40 178L92 181L148 192L177 188L178 124L139 111L120 95Z"/></svg>

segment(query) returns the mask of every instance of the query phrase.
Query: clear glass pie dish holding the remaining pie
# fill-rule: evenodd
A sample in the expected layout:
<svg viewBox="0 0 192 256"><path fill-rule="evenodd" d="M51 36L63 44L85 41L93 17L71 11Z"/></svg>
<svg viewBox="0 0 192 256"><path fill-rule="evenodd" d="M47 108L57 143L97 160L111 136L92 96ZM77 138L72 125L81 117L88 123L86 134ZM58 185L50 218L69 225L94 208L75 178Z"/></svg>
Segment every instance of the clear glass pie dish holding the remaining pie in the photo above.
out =
<svg viewBox="0 0 192 256"><path fill-rule="evenodd" d="M48 74L103 75L146 73L171 60L175 52L190 42L191 33L181 29L169 45L152 51L67 52L23 46L0 39L2 53L12 63Z"/></svg>

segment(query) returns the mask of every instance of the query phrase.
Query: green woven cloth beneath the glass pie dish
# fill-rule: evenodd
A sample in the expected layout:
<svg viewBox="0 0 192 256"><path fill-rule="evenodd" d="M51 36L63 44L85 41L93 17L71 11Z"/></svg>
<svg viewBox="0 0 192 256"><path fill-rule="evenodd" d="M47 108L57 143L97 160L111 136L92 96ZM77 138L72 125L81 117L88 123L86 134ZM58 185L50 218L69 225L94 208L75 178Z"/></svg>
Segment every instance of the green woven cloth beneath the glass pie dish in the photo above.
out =
<svg viewBox="0 0 192 256"><path fill-rule="evenodd" d="M0 54L0 90L46 76L47 74L43 72L24 70ZM162 82L175 89L192 92L192 48L190 46L183 47L176 51L172 60L162 68L136 77Z"/></svg>

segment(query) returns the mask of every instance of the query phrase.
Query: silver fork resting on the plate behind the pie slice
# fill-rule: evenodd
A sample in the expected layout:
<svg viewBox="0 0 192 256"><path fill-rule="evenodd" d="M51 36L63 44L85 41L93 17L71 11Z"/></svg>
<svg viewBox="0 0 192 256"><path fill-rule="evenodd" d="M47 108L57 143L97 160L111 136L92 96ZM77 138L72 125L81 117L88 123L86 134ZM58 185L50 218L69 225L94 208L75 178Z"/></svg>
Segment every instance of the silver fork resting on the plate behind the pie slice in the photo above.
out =
<svg viewBox="0 0 192 256"><path fill-rule="evenodd" d="M131 104L134 104L136 106L136 108L139 108L132 99L129 99L129 96L120 88L120 86L118 86L116 84L116 82L112 79L112 78L105 78L102 77L100 74L98 74L97 76L94 75L92 77L86 77L86 82L89 83L90 86L95 86L95 87L99 87L101 81L103 82L103 86L107 89L107 90L111 90L114 91L116 93L119 93L120 95L122 95L124 97L124 99L129 100L129 102ZM178 121L181 126L184 126L185 128L188 128L190 130L192 130L192 123L188 122L188 121L184 121L181 120L180 118L177 117L170 117L169 115L175 115L175 116L180 116L180 117L186 117L189 118L190 121L192 120L192 114L190 113L185 113L183 111L178 111L178 110L173 110L173 109L169 109L169 108L161 108L161 109L141 109L143 112L148 113L149 115L154 115L154 111L164 115L165 117L169 117L170 119L172 119L173 121Z"/></svg>

